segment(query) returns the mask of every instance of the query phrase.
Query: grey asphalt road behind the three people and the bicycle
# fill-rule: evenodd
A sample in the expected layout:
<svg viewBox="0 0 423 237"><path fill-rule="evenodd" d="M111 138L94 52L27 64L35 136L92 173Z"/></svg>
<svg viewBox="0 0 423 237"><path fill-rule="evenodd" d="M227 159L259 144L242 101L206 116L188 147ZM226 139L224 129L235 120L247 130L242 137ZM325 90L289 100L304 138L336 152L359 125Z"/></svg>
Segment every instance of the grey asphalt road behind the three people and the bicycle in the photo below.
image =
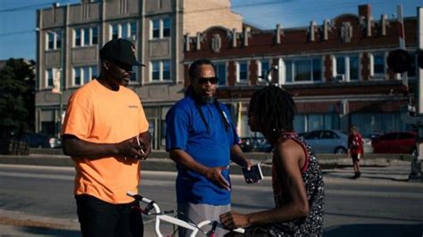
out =
<svg viewBox="0 0 423 237"><path fill-rule="evenodd" d="M325 236L422 236L423 184L388 178L398 168L363 168L352 180L351 168L326 170ZM403 167L404 170L407 167ZM72 168L0 165L0 235L79 236L72 197ZM140 192L162 209L175 208L175 173L145 171ZM251 212L273 206L270 178L245 184L232 176L233 209ZM170 225L163 229L171 232ZM145 218L145 236L153 220Z"/></svg>

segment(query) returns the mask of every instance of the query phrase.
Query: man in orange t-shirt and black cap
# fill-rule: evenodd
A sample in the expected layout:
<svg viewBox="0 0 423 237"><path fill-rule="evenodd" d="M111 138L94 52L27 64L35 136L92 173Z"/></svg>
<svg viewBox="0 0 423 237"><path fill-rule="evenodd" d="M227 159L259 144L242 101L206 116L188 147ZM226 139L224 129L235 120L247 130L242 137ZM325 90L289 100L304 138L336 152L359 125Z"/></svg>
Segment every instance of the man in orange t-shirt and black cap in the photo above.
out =
<svg viewBox="0 0 423 237"><path fill-rule="evenodd" d="M77 171L75 199L84 236L140 236L137 192L140 159L151 152L151 135L140 99L125 86L136 61L128 40L113 39L100 50L101 73L68 102L62 127L63 152Z"/></svg>

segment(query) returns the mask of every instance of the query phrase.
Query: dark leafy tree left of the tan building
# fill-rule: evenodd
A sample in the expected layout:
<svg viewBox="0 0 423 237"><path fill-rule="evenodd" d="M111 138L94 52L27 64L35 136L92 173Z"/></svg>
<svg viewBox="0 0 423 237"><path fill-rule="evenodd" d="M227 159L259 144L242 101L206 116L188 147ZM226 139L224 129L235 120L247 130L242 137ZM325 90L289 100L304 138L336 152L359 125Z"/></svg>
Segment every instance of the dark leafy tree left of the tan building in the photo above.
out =
<svg viewBox="0 0 423 237"><path fill-rule="evenodd" d="M35 61L9 59L0 71L1 136L34 131Z"/></svg>

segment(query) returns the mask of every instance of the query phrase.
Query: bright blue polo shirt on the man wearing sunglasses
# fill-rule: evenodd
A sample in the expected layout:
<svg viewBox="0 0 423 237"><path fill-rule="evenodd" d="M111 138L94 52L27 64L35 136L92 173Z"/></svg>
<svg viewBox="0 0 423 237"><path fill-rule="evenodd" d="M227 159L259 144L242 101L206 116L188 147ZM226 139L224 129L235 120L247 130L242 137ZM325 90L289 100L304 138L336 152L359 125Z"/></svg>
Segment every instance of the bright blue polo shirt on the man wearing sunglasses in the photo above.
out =
<svg viewBox="0 0 423 237"><path fill-rule="evenodd" d="M186 151L196 162L203 166L226 167L229 164L230 148L238 143L229 112L226 106L220 104L228 118L228 131L220 119L219 110L214 103L201 104L200 110L207 123L209 132L201 115L195 108L191 95L177 102L166 115L166 151L180 149ZM212 184L205 176L177 165L176 181L178 202L202 203L210 205L227 205L230 203L230 192ZM222 171L229 180L229 169Z"/></svg>

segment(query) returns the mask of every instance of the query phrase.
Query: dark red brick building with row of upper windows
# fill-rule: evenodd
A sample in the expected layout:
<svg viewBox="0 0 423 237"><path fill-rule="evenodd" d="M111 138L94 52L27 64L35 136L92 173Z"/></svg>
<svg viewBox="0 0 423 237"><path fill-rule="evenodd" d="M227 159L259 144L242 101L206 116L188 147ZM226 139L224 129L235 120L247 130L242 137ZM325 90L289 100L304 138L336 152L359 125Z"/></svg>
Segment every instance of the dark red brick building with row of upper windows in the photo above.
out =
<svg viewBox="0 0 423 237"><path fill-rule="evenodd" d="M407 50L417 49L417 20L404 19ZM358 14L341 14L321 25L272 30L242 31L215 26L185 36L185 85L190 62L209 58L215 62L222 101L241 111L241 136L252 136L246 125L246 108L257 88L266 84L267 69L273 83L294 95L297 104L295 130L341 129L351 124L362 135L413 129L407 90L402 76L387 68L390 51L399 48L396 19L386 15L373 20L370 5ZM416 85L416 69L408 72L410 91Z"/></svg>

